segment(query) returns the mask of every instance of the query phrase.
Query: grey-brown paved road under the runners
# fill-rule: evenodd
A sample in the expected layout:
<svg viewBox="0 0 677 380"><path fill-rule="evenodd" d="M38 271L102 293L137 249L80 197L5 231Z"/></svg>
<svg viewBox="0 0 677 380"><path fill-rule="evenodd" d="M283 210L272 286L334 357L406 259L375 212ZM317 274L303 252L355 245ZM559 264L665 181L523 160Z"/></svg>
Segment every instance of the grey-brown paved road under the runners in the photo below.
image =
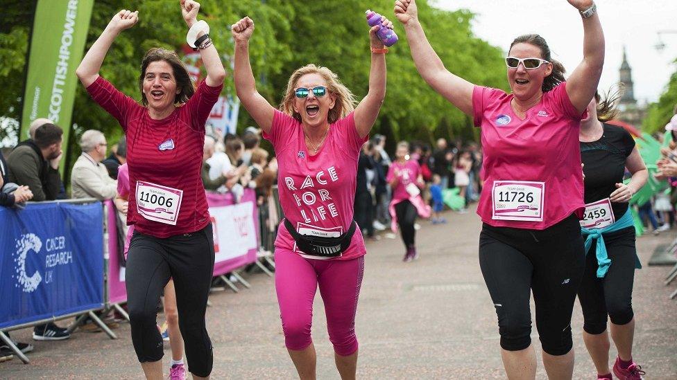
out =
<svg viewBox="0 0 677 380"><path fill-rule="evenodd" d="M357 313L360 379L502 379L496 316L477 260L481 223L477 215L447 214L449 224L422 221L420 260L401 261L400 239L368 242ZM675 232L638 239L642 263ZM644 266L635 275L635 359L646 379L677 379L677 301L662 279L668 267ZM214 379L294 379L286 354L273 280L249 275L252 289L213 293L207 319L214 342ZM532 308L533 309L533 308ZM162 317L160 317L162 318ZM533 317L532 317L533 318ZM594 379L583 339L580 307L574 309L574 379ZM103 333L76 332L69 341L34 342L30 330L13 332L31 341L32 363L0 363L0 379L142 379L129 326L110 340ZM318 379L339 379L319 296L313 327ZM532 334L540 356L538 335ZM614 351L615 349L612 349ZM165 360L169 360L166 347ZM615 351L612 352L615 355ZM539 358L540 362L540 358ZM538 379L545 379L539 363Z"/></svg>

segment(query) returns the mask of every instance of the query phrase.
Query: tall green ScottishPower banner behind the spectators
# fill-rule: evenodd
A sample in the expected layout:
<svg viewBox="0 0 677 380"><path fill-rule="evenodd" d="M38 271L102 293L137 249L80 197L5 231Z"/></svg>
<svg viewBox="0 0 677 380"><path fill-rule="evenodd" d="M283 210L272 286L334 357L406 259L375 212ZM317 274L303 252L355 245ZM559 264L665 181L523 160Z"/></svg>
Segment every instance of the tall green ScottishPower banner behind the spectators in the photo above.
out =
<svg viewBox="0 0 677 380"><path fill-rule="evenodd" d="M37 1L20 140L28 136L33 120L48 118L64 129L64 141L68 141L75 69L83 58L93 4L94 0Z"/></svg>

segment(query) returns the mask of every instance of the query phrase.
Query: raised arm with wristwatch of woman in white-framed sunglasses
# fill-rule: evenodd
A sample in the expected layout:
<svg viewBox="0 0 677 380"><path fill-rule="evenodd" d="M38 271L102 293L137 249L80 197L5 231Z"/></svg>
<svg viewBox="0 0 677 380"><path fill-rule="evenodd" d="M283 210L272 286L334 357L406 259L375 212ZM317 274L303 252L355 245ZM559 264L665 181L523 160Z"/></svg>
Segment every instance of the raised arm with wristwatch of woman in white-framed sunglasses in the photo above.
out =
<svg viewBox="0 0 677 380"><path fill-rule="evenodd" d="M594 6L592 0L567 0L583 12ZM604 66L604 33L597 12L583 19L583 62L567 80L567 95L572 105L583 114L597 91Z"/></svg>

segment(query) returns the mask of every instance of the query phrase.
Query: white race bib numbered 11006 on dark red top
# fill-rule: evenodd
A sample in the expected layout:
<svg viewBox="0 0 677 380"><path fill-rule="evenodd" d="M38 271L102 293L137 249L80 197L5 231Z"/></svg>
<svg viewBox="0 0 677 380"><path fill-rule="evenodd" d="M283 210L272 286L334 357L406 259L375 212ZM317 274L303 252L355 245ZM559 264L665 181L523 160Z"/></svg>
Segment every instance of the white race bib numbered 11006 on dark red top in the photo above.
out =
<svg viewBox="0 0 677 380"><path fill-rule="evenodd" d="M183 199L183 190L137 181L137 212L142 217L176 225Z"/></svg>

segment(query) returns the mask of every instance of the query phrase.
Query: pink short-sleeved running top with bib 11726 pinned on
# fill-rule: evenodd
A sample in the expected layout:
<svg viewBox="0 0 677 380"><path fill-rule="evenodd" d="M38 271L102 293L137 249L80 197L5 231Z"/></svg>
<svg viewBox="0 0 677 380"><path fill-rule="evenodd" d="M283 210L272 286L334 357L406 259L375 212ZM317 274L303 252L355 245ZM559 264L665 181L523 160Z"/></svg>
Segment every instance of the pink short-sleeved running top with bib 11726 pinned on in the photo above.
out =
<svg viewBox="0 0 677 380"><path fill-rule="evenodd" d="M566 82L544 93L540 103L526 111L524 120L515 115L512 98L512 94L488 87L476 86L472 92L486 180L477 214L491 226L534 230L548 228L574 212L582 217L579 129L585 112L581 115L572 105ZM534 212L542 221L523 216ZM506 215L511 219L498 219Z"/></svg>

